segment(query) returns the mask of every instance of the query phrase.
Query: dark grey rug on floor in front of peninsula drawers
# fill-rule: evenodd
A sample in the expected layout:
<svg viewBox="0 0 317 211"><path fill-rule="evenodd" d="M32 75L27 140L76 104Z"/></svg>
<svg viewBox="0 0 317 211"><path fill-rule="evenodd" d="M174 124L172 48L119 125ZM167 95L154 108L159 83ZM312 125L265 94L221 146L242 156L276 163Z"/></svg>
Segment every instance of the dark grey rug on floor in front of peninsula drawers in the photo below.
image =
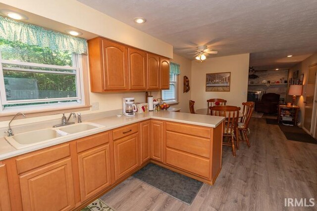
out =
<svg viewBox="0 0 317 211"><path fill-rule="evenodd" d="M148 164L133 176L187 205L192 204L203 186L203 182L155 164Z"/></svg>

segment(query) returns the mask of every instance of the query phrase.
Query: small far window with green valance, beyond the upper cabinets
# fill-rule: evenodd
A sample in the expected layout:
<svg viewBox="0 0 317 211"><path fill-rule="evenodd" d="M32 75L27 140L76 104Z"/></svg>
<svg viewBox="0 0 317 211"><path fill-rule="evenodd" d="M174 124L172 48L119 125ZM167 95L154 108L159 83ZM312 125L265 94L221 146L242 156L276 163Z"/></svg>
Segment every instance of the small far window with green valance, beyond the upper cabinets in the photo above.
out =
<svg viewBox="0 0 317 211"><path fill-rule="evenodd" d="M162 90L162 100L166 103L177 103L177 87L178 80L177 76L180 74L179 64L170 62L170 70L169 70L169 89Z"/></svg>

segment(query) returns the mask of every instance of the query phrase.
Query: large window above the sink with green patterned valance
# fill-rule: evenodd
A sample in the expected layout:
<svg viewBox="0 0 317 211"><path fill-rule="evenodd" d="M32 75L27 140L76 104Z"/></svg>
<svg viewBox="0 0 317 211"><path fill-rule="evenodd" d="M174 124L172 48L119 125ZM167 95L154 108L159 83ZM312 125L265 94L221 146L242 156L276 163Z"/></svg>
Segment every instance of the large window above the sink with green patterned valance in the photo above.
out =
<svg viewBox="0 0 317 211"><path fill-rule="evenodd" d="M87 42L0 17L1 111L82 105Z"/></svg>

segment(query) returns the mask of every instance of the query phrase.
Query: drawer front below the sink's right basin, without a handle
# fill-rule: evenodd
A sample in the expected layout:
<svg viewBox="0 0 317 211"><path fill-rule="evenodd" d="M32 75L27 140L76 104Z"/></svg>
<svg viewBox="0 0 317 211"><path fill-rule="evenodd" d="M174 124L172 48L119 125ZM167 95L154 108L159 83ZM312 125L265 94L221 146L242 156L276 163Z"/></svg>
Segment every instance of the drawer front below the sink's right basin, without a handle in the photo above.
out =
<svg viewBox="0 0 317 211"><path fill-rule="evenodd" d="M109 132L98 133L77 140L77 153L108 143Z"/></svg>

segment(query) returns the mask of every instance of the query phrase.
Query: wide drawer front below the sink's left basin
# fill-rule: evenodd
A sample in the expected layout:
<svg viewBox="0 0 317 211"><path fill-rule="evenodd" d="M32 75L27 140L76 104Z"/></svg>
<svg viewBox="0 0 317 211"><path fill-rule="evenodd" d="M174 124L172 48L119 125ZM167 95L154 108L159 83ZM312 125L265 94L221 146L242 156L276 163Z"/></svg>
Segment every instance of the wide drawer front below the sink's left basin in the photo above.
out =
<svg viewBox="0 0 317 211"><path fill-rule="evenodd" d="M20 156L16 159L16 166L20 174L69 156L69 144L62 144Z"/></svg>

